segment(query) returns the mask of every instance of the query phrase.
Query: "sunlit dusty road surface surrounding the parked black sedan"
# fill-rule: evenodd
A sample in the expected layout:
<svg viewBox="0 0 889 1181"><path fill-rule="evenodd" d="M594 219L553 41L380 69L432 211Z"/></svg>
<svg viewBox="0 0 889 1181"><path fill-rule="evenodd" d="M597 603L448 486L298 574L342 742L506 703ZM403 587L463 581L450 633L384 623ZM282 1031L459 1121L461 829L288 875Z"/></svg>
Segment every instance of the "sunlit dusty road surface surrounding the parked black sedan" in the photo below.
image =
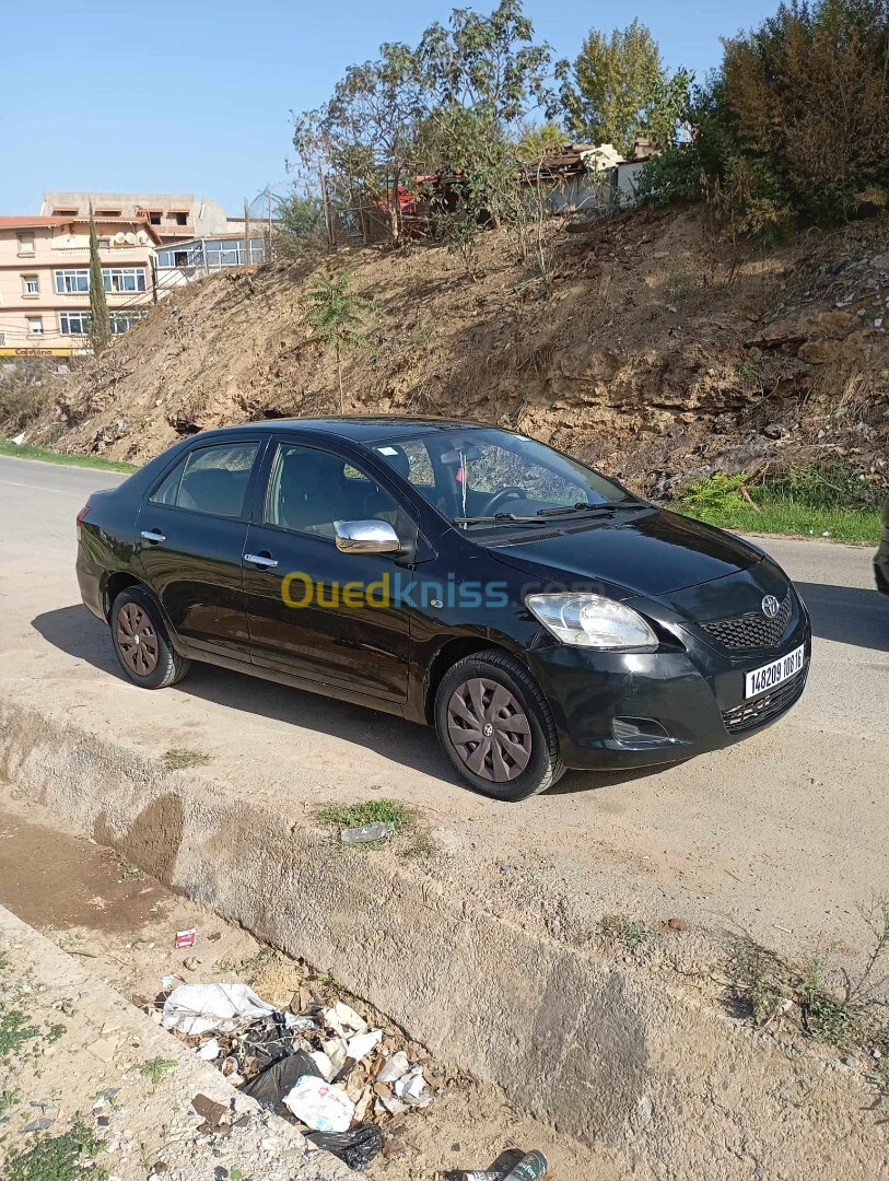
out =
<svg viewBox="0 0 889 1181"><path fill-rule="evenodd" d="M459 787L434 735L398 719L209 667L162 693L123 680L73 574L78 509L122 478L0 457L0 681L17 696L158 755L198 750L288 814L399 798L442 849L429 872L519 921L556 915L570 933L608 913L681 914L796 955L861 953L857 908L889 895L889 599L869 550L760 539L815 628L809 687L776 726L504 805Z"/></svg>

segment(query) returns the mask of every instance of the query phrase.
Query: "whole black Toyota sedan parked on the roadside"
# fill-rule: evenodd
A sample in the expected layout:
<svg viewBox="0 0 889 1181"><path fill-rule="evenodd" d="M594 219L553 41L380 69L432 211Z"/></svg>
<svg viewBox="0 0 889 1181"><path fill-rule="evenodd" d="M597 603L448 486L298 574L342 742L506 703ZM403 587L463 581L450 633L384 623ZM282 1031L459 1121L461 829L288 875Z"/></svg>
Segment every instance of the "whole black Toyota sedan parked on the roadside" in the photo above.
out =
<svg viewBox="0 0 889 1181"><path fill-rule="evenodd" d="M204 660L436 726L498 800L756 733L810 627L760 549L535 439L439 419L195 435L78 515L124 673Z"/></svg>

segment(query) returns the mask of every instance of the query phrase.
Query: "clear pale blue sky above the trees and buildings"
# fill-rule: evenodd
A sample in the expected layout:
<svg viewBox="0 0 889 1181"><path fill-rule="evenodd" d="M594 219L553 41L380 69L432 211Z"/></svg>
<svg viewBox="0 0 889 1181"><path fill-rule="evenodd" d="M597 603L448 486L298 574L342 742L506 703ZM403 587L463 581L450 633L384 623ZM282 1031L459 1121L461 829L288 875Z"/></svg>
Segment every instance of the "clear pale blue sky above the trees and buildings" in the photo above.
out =
<svg viewBox="0 0 889 1181"><path fill-rule="evenodd" d="M460 0L490 11L496 0ZM37 213L50 189L194 193L231 213L286 181L289 111L316 106L342 70L384 41L416 43L453 0L119 0L0 4L0 214ZM720 35L777 0L679 4L525 0L538 38L574 57L589 28L634 17L666 61L702 74ZM620 13L620 14L619 14Z"/></svg>

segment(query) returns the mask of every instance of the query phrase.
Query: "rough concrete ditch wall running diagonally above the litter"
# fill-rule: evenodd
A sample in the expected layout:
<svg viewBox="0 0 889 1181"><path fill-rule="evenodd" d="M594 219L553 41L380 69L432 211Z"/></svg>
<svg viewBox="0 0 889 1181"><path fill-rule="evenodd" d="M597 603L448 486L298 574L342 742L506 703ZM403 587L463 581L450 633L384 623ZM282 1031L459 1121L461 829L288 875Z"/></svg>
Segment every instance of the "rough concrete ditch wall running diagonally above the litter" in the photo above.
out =
<svg viewBox="0 0 889 1181"><path fill-rule="evenodd" d="M164 774L70 718L2 697L0 743L14 798L333 971L444 1062L636 1176L796 1179L813 1162L824 1177L889 1176L872 1095L843 1068L473 908L412 867L334 848L237 785Z"/></svg>

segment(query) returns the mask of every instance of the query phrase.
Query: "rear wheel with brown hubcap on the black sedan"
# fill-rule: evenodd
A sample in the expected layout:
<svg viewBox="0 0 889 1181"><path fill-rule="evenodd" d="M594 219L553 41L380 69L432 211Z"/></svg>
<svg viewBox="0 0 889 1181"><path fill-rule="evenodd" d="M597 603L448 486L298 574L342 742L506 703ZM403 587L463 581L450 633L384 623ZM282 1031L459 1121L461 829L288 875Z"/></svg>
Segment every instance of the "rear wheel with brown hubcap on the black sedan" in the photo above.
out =
<svg viewBox="0 0 889 1181"><path fill-rule="evenodd" d="M122 590L109 615L120 667L142 689L166 689L182 680L191 661L170 644L161 612L144 587Z"/></svg>

